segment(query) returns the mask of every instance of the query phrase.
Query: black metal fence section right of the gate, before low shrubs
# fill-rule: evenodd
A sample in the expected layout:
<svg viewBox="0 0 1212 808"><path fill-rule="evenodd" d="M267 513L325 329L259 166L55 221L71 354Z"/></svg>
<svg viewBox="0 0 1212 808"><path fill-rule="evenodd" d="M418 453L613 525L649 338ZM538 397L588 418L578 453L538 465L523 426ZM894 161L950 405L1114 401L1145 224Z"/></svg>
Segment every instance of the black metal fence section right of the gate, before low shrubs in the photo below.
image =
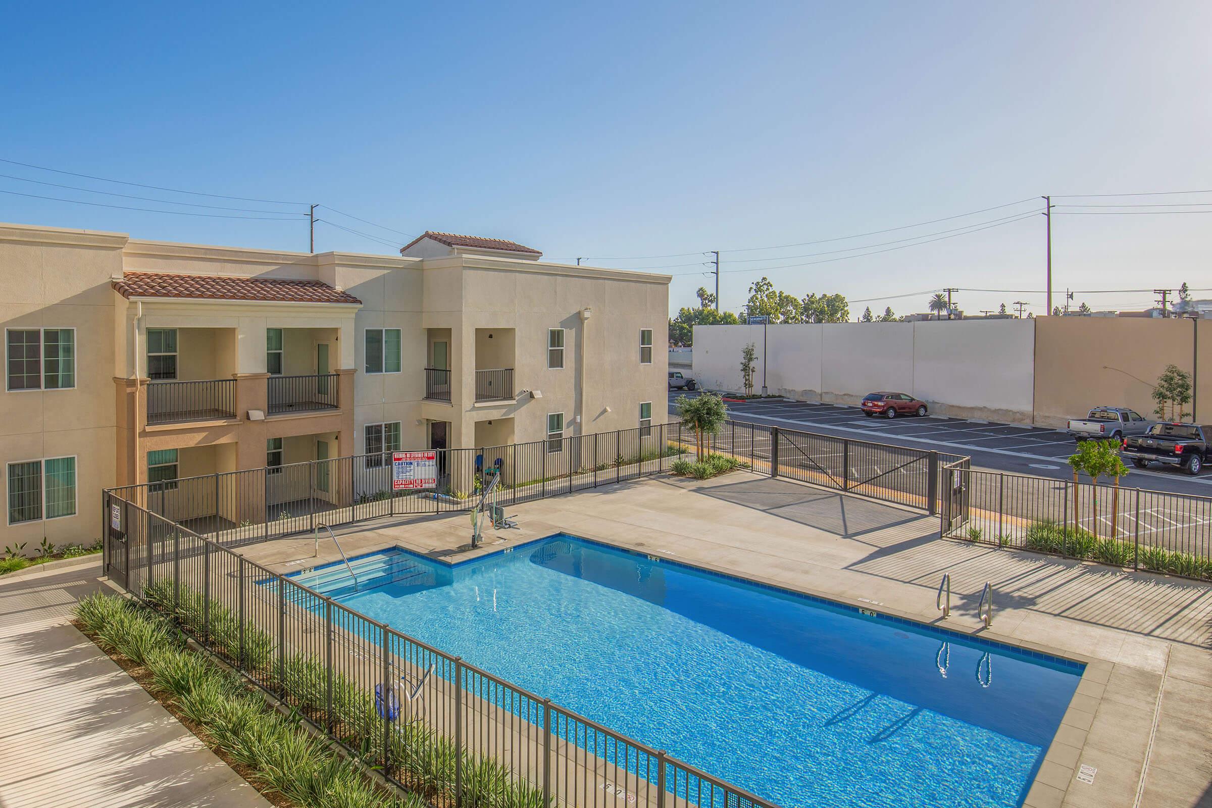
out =
<svg viewBox="0 0 1212 808"><path fill-rule="evenodd" d="M944 470L942 534L1212 579L1212 499L1001 471Z"/></svg>

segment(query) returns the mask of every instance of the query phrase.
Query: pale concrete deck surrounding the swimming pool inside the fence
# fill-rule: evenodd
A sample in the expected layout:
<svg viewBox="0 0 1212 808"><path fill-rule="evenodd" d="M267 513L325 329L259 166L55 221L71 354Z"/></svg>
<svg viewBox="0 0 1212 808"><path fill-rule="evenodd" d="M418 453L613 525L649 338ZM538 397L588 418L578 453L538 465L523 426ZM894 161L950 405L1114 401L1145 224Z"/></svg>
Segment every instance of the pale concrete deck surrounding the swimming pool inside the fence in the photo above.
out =
<svg viewBox="0 0 1212 808"><path fill-rule="evenodd" d="M505 509L519 529L465 548L465 514L337 529L350 556L400 545L456 561L568 532L990 638L1088 658L1087 675L1024 804L1212 806L1212 586L938 538L938 520L747 472L622 483ZM504 544L494 544L503 541ZM239 552L278 572L319 558L311 537ZM943 620L934 597L951 575ZM995 592L983 630L977 601ZM406 626L400 626L406 631ZM1093 767L1093 783L1077 779Z"/></svg>

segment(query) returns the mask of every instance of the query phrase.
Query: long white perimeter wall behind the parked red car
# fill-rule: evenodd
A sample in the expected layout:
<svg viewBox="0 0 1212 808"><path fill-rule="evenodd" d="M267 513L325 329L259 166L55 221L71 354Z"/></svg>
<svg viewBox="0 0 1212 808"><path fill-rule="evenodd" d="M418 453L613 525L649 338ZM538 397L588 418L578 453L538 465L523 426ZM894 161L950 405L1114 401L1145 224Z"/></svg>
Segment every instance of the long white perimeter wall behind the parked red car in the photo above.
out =
<svg viewBox="0 0 1212 808"><path fill-rule="evenodd" d="M741 349L750 342L760 392L761 326L696 326L694 378L708 389L739 391ZM1031 420L1031 320L770 326L765 353L771 394L857 403L875 390L898 390L937 414Z"/></svg>

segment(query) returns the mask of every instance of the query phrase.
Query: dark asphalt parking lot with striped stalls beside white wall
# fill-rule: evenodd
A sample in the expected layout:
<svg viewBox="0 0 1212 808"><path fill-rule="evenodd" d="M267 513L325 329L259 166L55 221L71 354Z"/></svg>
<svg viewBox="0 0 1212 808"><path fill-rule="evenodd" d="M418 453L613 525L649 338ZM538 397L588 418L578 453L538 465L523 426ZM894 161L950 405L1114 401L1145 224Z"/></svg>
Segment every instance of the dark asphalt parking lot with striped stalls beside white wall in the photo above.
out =
<svg viewBox="0 0 1212 808"><path fill-rule="evenodd" d="M669 391L670 414L674 412L674 401L680 395L684 395L680 390ZM854 405L784 399L730 401L728 412L736 420L768 426L788 426L839 437L967 454L972 457L973 466L983 469L1053 479L1071 477L1065 460L1074 452L1074 440L1058 429L942 416L869 418ZM1124 485L1173 493L1212 494L1212 476L1207 472L1190 477L1156 466L1148 470L1131 469Z"/></svg>

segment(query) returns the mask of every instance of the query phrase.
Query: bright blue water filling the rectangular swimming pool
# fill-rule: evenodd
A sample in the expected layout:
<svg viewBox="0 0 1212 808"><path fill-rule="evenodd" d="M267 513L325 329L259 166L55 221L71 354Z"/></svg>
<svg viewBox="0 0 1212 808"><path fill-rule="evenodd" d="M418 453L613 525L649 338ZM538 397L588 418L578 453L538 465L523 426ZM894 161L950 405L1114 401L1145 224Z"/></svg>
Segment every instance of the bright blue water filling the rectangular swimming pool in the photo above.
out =
<svg viewBox="0 0 1212 808"><path fill-rule="evenodd" d="M1082 666L556 535L297 573L789 807L1018 806Z"/></svg>

